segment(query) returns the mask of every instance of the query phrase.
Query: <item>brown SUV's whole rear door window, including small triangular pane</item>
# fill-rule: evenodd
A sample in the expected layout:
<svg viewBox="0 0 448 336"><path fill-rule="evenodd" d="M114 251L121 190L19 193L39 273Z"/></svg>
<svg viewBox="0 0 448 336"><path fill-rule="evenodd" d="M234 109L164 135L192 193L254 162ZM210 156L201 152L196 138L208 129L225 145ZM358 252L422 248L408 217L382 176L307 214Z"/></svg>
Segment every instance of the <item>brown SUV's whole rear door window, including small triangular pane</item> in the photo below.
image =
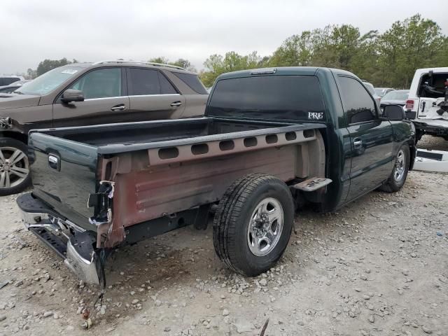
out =
<svg viewBox="0 0 448 336"><path fill-rule="evenodd" d="M130 96L176 93L172 83L160 71L141 68L129 69Z"/></svg>

